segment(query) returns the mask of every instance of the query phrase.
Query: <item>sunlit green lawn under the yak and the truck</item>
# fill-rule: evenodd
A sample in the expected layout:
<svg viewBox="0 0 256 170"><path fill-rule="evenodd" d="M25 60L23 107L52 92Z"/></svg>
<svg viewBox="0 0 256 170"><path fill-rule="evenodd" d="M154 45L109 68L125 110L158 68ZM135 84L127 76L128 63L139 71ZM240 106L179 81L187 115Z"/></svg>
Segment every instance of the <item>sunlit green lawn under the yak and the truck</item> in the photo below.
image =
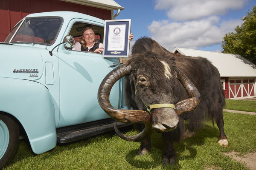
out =
<svg viewBox="0 0 256 170"><path fill-rule="evenodd" d="M218 127L207 122L195 136L175 143L177 163L162 165L164 143L160 133L151 137L152 149L137 156L140 143L127 142L113 133L91 139L58 145L35 155L26 141L18 145L17 153L4 170L204 170L207 167L222 170L247 170L223 153L236 151L242 155L256 151L256 116L224 112L224 129L228 147L218 145ZM127 134L135 134L130 131Z"/></svg>

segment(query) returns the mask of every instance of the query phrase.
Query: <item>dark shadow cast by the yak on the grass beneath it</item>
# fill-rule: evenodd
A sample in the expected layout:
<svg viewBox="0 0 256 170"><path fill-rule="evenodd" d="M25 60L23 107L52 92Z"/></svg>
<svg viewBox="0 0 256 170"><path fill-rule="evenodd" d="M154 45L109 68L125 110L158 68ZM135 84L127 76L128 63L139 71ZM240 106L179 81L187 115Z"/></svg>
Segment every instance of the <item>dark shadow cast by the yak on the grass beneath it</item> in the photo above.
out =
<svg viewBox="0 0 256 170"><path fill-rule="evenodd" d="M205 139L207 138L215 138L216 142L218 142L219 130L216 126L211 125L204 125L201 130L196 132L196 135L192 138L186 139L183 142L175 143L174 147L177 154L176 163L174 165L162 165L163 169L181 169L181 165L179 161L186 160L186 159L194 159L198 154L196 146L201 146L205 144ZM164 150L164 143L161 139L160 134L153 134L151 136L152 148L151 151L148 153L153 161L144 161L144 160L137 160L136 159L136 152L137 150L131 150L127 156L126 161L134 167L137 168L154 168L158 167L162 164L162 154ZM139 149L139 148L138 148ZM159 151L160 150L160 151ZM188 152L188 154L182 154L184 152Z"/></svg>

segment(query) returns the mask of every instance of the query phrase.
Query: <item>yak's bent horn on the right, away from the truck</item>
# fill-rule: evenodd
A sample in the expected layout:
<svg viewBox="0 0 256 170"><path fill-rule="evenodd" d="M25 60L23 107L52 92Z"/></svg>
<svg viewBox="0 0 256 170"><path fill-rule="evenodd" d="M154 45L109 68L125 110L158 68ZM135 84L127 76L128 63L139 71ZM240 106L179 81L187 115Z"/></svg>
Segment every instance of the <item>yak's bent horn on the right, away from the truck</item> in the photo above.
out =
<svg viewBox="0 0 256 170"><path fill-rule="evenodd" d="M178 69L177 78L184 86L190 97L189 99L177 102L175 105L176 113L180 115L185 112L193 111L197 108L200 102L200 93L191 80L180 69Z"/></svg>

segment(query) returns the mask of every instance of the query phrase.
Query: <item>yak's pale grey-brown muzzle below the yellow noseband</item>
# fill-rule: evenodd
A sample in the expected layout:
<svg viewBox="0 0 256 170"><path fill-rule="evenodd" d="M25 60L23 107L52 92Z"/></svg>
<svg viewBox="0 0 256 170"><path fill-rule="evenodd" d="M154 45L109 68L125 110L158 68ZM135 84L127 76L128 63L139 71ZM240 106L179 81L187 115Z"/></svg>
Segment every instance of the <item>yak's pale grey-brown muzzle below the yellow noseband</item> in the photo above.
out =
<svg viewBox="0 0 256 170"><path fill-rule="evenodd" d="M160 131L170 131L177 127L179 116L172 108L155 109L152 114L152 127Z"/></svg>

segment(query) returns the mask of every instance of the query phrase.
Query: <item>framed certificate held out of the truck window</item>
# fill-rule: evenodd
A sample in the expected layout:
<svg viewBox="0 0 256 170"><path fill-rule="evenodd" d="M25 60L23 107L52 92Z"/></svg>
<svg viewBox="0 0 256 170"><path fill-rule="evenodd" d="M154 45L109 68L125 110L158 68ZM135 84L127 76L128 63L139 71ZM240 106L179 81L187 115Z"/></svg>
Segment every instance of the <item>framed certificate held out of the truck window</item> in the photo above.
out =
<svg viewBox="0 0 256 170"><path fill-rule="evenodd" d="M129 57L131 20L105 20L103 57Z"/></svg>

